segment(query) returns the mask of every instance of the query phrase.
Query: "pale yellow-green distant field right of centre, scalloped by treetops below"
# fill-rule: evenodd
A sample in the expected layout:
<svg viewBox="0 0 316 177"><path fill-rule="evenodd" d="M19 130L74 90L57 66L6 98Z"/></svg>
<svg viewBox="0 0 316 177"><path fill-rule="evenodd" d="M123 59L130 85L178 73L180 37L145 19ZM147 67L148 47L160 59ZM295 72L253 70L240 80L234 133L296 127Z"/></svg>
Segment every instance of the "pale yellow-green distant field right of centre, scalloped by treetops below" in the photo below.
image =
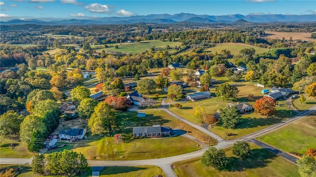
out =
<svg viewBox="0 0 316 177"><path fill-rule="evenodd" d="M247 45L244 43L220 43L220 44L216 44L215 47L206 48L206 49L204 49L204 51L215 53L219 50L227 49L227 50L230 50L233 55L237 55L239 53L239 51L244 49L244 48L254 48L256 50L256 54L260 54L262 52L267 52L269 50L267 48L257 47L257 46L253 46L253 45Z"/></svg>

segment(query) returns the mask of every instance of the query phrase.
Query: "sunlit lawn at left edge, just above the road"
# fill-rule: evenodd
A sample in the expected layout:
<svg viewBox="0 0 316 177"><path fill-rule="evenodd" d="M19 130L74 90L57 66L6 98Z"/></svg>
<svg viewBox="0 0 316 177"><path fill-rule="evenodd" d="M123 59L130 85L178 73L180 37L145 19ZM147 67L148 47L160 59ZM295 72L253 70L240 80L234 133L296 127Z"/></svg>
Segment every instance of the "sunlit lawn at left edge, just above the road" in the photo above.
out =
<svg viewBox="0 0 316 177"><path fill-rule="evenodd" d="M11 147L11 144L15 146ZM1 158L31 158L32 156L33 153L28 150L23 142L0 138Z"/></svg>

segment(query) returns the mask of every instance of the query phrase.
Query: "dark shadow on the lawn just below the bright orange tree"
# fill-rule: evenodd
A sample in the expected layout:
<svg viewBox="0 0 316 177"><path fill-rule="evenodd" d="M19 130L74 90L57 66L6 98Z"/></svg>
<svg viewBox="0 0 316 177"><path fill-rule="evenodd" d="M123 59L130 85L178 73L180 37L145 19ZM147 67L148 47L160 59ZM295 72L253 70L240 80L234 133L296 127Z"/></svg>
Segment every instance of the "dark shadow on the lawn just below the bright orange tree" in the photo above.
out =
<svg viewBox="0 0 316 177"><path fill-rule="evenodd" d="M240 124L238 125L237 129L247 129L247 128L255 128L258 126L267 126L267 125L273 125L278 122L280 122L281 118L242 118Z"/></svg>

